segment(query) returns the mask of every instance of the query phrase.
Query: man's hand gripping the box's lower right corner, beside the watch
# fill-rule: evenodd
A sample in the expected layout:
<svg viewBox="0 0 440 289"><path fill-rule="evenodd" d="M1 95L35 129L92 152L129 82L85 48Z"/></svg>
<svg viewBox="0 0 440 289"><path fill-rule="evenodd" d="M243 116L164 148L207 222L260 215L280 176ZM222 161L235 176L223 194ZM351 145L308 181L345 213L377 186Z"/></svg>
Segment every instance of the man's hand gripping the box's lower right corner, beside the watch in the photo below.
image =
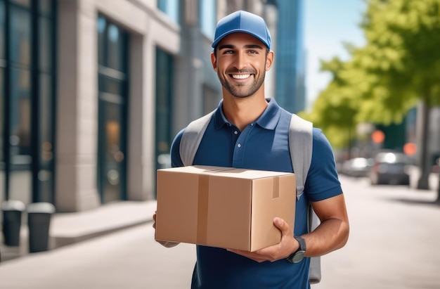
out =
<svg viewBox="0 0 440 289"><path fill-rule="evenodd" d="M238 255L253 259L257 262L264 261L276 261L279 259L287 258L292 252L298 249L299 243L295 238L293 238L292 229L290 226L281 218L274 218L273 224L281 231L280 243L272 245L255 252L247 252L243 250L229 250Z"/></svg>

